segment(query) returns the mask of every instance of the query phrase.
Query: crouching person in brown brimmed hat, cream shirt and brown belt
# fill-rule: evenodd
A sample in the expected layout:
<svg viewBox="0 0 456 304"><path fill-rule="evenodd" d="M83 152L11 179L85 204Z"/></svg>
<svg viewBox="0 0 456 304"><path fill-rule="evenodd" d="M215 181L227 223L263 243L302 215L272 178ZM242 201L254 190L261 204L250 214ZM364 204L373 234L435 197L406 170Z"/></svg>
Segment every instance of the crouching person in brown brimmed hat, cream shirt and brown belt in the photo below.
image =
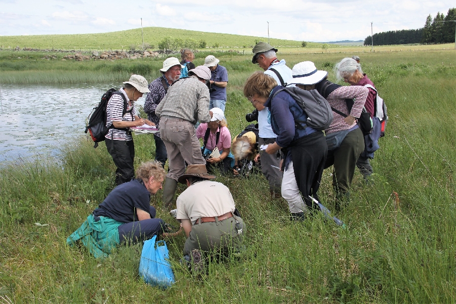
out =
<svg viewBox="0 0 456 304"><path fill-rule="evenodd" d="M235 203L230 189L209 179L206 166L188 165L178 178L187 188L177 198L177 216L187 236L184 259L192 264L192 272L204 271L202 251L239 252L245 225L235 215Z"/></svg>

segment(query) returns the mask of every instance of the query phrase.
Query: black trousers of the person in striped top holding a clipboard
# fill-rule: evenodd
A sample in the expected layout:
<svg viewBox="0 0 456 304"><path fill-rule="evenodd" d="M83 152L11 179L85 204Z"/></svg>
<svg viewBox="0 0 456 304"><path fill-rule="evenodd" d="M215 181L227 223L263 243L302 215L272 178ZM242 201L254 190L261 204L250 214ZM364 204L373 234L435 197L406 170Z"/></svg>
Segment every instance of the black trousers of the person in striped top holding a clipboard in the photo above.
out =
<svg viewBox="0 0 456 304"><path fill-rule="evenodd" d="M130 181L135 176L133 162L135 158L135 145L133 140L104 140L106 148L112 157L112 161L117 167L116 184L120 185Z"/></svg>

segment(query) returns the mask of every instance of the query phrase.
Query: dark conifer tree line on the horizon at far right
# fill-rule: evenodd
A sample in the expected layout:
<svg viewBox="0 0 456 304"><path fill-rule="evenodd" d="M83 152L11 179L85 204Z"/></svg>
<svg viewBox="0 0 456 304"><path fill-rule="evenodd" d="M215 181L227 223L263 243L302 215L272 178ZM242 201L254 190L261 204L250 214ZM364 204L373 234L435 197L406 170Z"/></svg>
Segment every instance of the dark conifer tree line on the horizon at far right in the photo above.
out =
<svg viewBox="0 0 456 304"><path fill-rule="evenodd" d="M392 30L373 34L374 46L398 44L438 44L454 42L454 28L456 22L443 22L456 20L456 8L449 9L448 14L437 13L434 19L429 15L423 28ZM364 45L372 45L372 36L364 39Z"/></svg>

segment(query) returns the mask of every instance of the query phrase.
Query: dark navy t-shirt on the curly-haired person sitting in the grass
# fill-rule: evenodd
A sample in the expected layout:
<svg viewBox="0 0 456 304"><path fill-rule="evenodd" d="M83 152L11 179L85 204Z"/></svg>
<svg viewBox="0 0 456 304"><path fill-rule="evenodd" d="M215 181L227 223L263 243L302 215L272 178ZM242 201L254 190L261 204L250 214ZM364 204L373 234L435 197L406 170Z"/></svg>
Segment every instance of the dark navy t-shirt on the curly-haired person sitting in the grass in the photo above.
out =
<svg viewBox="0 0 456 304"><path fill-rule="evenodd" d="M115 187L103 203L93 211L95 216L107 216L123 223L137 221L136 209L149 212L150 193L141 179L134 179ZM151 215L152 217L152 215Z"/></svg>

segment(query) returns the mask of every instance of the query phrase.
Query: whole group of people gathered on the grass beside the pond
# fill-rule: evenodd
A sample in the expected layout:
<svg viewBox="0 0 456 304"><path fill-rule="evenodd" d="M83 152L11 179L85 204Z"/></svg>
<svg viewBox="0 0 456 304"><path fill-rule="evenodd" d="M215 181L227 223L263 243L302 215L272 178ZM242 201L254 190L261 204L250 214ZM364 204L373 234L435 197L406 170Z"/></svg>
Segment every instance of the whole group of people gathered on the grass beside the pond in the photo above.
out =
<svg viewBox="0 0 456 304"><path fill-rule="evenodd" d="M183 250L187 261L200 265L201 252L215 248L239 250L245 224L229 188L211 181L215 176L208 172L215 165L222 172L239 174L239 162L245 158L261 162L271 196L281 194L292 220L303 220L316 209L321 176L330 166L336 207L349 200L356 166L365 178L372 174L369 159L373 151L366 151L368 139L357 119L363 108L373 114L376 90L362 72L359 58L345 58L336 65L337 77L351 85L339 86L329 82L328 73L311 61L290 69L285 60L277 59L278 50L267 43L258 43L252 51L252 63L263 71L248 78L243 93L258 111L258 125L236 136L233 147L224 117L227 71L214 56L195 66L193 52L184 49L182 61L167 58L161 77L150 84L140 75L132 75L124 83L120 89L124 97L113 95L106 110L106 126L113 126L106 135L106 147L117 166L118 186L68 238L68 244L81 240L95 256L105 256L118 244L161 235L164 222L156 218L149 202L150 195L163 188L164 207L176 208L176 218L187 236ZM181 78L183 69L187 69L187 77ZM326 98L333 120L325 132L305 123L306 111L281 90L290 85L316 90ZM140 118L134 107L143 93L147 93L147 119ZM124 98L128 100L125 114ZM156 161L141 164L133 178L134 145L128 128L143 124L159 128L154 134ZM214 156L215 150L218 154ZM179 182L187 189L174 200Z"/></svg>

